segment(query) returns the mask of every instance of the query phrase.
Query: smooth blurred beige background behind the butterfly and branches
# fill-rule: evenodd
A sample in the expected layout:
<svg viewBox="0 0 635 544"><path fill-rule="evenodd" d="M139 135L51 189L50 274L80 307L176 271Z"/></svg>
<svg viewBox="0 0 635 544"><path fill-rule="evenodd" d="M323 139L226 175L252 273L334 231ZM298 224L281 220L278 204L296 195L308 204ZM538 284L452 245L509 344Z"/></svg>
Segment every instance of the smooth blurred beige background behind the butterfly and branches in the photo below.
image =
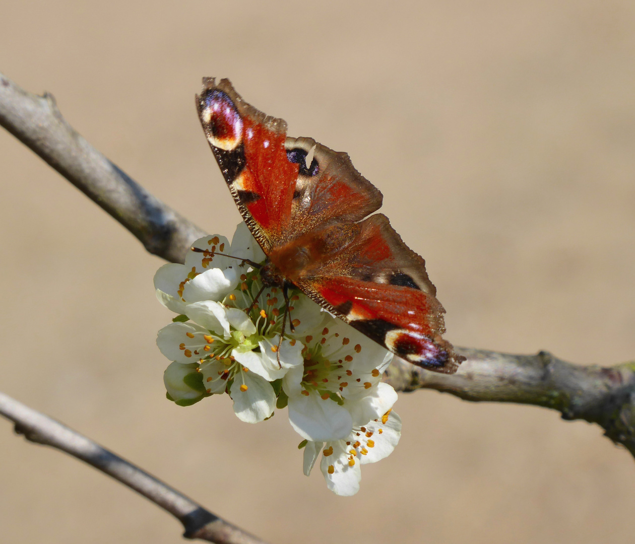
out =
<svg viewBox="0 0 635 544"><path fill-rule="evenodd" d="M194 93L230 77L351 154L425 256L447 337L635 357L635 4L626 0L0 4L0 70L209 232L239 215ZM0 131L0 388L274 543L627 543L635 463L598 427L401 395L403 439L340 498L284 413L164 399L161 265ZM154 505L0 421L0 540L174 543Z"/></svg>

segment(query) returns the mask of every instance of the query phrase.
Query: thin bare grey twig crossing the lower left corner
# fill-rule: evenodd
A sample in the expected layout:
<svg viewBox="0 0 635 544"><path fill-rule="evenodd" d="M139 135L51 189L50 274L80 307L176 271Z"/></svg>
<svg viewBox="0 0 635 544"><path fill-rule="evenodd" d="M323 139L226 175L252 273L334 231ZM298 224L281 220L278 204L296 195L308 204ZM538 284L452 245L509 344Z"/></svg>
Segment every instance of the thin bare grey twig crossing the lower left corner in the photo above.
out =
<svg viewBox="0 0 635 544"><path fill-rule="evenodd" d="M30 442L65 451L170 512L185 527L186 538L199 538L218 544L264 544L260 538L211 514L184 494L102 448L97 442L3 393L0 393L0 415L13 421L15 431Z"/></svg>

